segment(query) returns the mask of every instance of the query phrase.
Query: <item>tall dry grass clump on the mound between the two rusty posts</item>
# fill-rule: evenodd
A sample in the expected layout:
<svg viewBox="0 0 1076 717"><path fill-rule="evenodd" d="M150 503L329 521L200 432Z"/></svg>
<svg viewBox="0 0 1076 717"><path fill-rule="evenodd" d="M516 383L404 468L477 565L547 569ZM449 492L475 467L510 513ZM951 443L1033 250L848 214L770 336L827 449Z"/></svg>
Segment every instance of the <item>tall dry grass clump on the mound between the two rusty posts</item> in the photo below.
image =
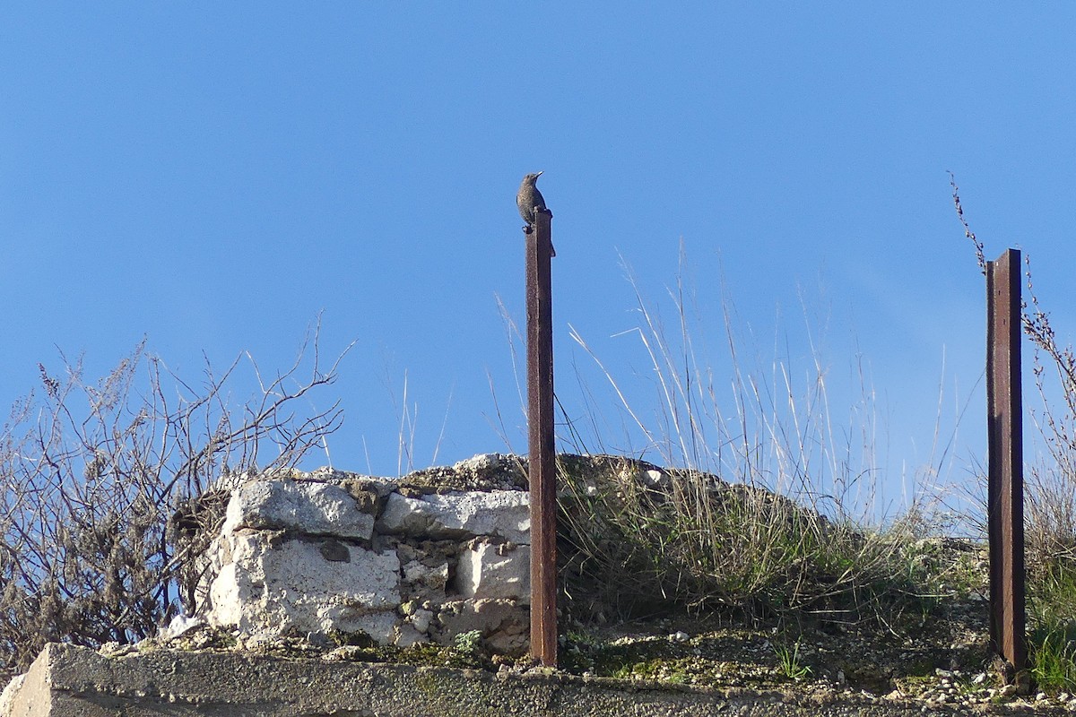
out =
<svg viewBox="0 0 1076 717"><path fill-rule="evenodd" d="M874 397L862 373L860 404L838 426L813 345L806 370L781 359L765 371L749 368L726 299L733 368L720 377L696 355L699 328L683 275L669 291L677 317L671 330L633 281L639 325L632 333L654 376L660 399L653 410L633 404L572 330L633 430L645 436L636 455L656 453L680 468L654 483L645 467L624 461L612 472L618 478L601 484L562 465L569 578L570 571L589 575L622 614L672 601L755 620L870 620L890 629L967 584L947 574L957 567L924 559L929 548L919 539L929 526L922 520L870 524L879 469ZM566 426L564 441L585 448L576 425Z"/></svg>

